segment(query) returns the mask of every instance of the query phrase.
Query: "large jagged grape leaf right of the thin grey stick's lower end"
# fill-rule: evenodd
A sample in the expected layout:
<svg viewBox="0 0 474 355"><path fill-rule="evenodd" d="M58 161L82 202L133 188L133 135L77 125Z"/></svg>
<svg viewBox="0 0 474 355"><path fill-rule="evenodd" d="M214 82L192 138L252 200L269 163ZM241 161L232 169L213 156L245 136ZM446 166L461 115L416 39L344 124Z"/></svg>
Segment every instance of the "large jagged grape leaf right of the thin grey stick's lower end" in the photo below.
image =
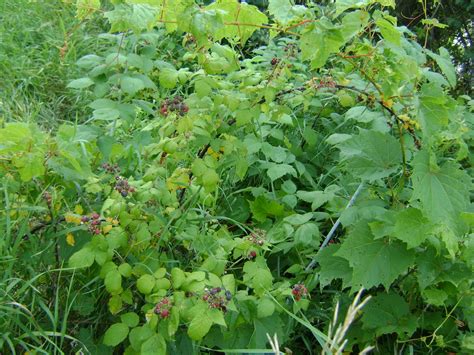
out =
<svg viewBox="0 0 474 355"><path fill-rule="evenodd" d="M371 288L382 284L386 289L413 264L414 252L399 241L374 239L367 221L359 222L335 253L352 267L352 288Z"/></svg>

